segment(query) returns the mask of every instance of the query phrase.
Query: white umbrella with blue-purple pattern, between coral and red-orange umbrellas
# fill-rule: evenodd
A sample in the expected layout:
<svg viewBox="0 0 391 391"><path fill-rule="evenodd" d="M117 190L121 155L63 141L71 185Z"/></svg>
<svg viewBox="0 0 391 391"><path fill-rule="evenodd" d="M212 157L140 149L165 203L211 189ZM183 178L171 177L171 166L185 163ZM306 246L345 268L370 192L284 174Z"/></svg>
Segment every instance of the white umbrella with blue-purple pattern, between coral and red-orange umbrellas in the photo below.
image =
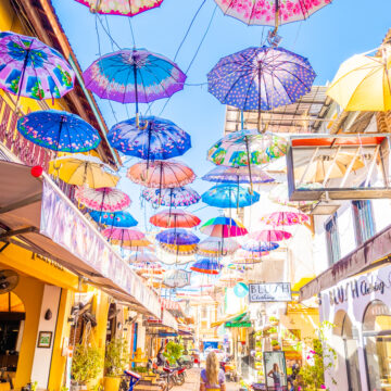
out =
<svg viewBox="0 0 391 391"><path fill-rule="evenodd" d="M200 194L192 188L176 187L167 189L146 188L141 193L142 198L152 202L154 206L190 206L200 201Z"/></svg>

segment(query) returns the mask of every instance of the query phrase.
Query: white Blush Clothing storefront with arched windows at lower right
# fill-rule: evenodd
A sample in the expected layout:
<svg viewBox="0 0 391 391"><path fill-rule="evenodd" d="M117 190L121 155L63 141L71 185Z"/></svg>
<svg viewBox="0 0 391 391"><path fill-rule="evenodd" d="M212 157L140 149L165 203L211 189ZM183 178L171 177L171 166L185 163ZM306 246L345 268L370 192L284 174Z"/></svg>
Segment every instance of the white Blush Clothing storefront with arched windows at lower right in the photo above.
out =
<svg viewBox="0 0 391 391"><path fill-rule="evenodd" d="M391 390L391 266L342 280L320 293L320 321L335 325L330 390Z"/></svg>

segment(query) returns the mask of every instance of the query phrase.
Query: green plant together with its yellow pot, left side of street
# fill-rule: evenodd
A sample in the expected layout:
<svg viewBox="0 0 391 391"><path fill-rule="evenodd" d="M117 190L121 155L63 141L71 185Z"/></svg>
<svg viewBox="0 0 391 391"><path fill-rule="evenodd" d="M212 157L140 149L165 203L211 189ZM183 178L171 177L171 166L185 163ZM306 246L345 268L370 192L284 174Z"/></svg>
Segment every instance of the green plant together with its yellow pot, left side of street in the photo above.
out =
<svg viewBox="0 0 391 391"><path fill-rule="evenodd" d="M121 376L127 365L128 348L126 340L114 338L108 344L104 356L104 391L118 391Z"/></svg>

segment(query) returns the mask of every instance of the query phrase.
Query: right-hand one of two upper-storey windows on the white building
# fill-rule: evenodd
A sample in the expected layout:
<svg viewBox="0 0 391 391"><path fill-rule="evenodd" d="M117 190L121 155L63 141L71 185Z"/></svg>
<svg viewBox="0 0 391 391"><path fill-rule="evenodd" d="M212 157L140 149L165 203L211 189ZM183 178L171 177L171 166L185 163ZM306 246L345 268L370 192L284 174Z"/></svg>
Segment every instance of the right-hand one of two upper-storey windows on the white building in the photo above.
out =
<svg viewBox="0 0 391 391"><path fill-rule="evenodd" d="M369 200L352 201L354 231L357 245L375 235L371 203Z"/></svg>

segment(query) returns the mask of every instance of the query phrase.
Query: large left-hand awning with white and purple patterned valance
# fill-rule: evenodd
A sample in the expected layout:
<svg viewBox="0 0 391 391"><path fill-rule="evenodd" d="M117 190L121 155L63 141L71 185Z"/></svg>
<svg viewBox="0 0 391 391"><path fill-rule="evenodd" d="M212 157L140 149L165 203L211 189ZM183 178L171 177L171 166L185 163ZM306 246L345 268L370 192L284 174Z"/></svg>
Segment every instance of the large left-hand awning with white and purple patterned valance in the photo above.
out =
<svg viewBox="0 0 391 391"><path fill-rule="evenodd" d="M30 167L0 161L0 241L51 258L139 312L161 316L157 297L58 186Z"/></svg>

